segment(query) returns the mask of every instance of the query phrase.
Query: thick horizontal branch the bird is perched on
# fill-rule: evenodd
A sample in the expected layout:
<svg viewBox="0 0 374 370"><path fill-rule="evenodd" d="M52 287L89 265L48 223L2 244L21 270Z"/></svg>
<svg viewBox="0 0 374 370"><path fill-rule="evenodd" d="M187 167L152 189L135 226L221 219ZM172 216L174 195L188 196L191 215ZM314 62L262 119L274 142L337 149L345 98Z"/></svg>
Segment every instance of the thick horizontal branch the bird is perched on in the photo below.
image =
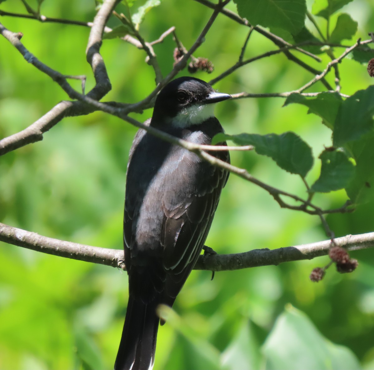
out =
<svg viewBox="0 0 374 370"><path fill-rule="evenodd" d="M0 223L0 241L34 251L74 260L100 263L125 269L123 250L92 247L48 238L30 231ZM374 233L347 235L334 239L349 251L374 247ZM235 254L208 254L199 257L195 270L226 271L249 267L278 265L283 262L310 260L329 253L331 240L274 250L255 249Z"/></svg>

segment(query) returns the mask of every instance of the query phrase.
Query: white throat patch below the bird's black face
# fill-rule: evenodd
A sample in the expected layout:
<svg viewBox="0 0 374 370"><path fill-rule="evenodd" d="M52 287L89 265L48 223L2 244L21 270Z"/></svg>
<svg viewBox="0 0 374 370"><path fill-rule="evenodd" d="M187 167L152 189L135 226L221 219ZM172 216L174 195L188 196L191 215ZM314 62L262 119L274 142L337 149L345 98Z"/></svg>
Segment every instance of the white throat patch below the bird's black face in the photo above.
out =
<svg viewBox="0 0 374 370"><path fill-rule="evenodd" d="M171 125L178 128L186 128L193 125L199 125L208 118L214 117L215 104L194 105L184 108L175 117L171 119Z"/></svg>

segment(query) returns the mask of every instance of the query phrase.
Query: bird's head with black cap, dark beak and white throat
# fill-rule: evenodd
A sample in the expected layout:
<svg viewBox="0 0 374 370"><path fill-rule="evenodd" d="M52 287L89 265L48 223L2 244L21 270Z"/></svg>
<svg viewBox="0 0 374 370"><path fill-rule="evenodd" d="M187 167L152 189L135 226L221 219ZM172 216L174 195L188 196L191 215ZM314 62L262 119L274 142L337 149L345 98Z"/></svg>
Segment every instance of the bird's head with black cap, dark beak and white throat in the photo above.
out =
<svg viewBox="0 0 374 370"><path fill-rule="evenodd" d="M186 128L214 117L214 104L231 95L214 91L194 77L180 77L165 86L156 98L151 125Z"/></svg>

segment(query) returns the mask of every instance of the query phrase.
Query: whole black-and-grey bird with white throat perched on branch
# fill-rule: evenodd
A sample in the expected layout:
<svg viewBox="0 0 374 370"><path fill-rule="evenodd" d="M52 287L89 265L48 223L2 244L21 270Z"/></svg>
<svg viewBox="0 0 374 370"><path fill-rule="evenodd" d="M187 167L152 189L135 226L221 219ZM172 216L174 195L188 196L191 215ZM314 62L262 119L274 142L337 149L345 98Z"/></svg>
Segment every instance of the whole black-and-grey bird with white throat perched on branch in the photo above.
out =
<svg viewBox="0 0 374 370"><path fill-rule="evenodd" d="M224 132L214 103L231 98L194 77L157 95L146 126L195 144ZM227 145L226 142L220 145ZM230 163L228 151L211 152ZM160 304L171 307L196 263L229 172L139 129L129 153L123 240L129 300L114 370L151 370Z"/></svg>

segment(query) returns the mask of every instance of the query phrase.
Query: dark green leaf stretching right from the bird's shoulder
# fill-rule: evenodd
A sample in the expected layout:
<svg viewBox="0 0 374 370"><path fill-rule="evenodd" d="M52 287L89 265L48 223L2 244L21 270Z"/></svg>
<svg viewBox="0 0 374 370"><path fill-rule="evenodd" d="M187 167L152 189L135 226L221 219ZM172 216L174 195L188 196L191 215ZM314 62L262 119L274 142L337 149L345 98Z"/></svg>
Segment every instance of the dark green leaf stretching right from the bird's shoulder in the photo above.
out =
<svg viewBox="0 0 374 370"><path fill-rule="evenodd" d="M312 149L294 132L281 135L218 134L213 142L223 140L232 140L239 145L253 145L258 154L272 158L282 169L301 177L305 177L313 166Z"/></svg>

